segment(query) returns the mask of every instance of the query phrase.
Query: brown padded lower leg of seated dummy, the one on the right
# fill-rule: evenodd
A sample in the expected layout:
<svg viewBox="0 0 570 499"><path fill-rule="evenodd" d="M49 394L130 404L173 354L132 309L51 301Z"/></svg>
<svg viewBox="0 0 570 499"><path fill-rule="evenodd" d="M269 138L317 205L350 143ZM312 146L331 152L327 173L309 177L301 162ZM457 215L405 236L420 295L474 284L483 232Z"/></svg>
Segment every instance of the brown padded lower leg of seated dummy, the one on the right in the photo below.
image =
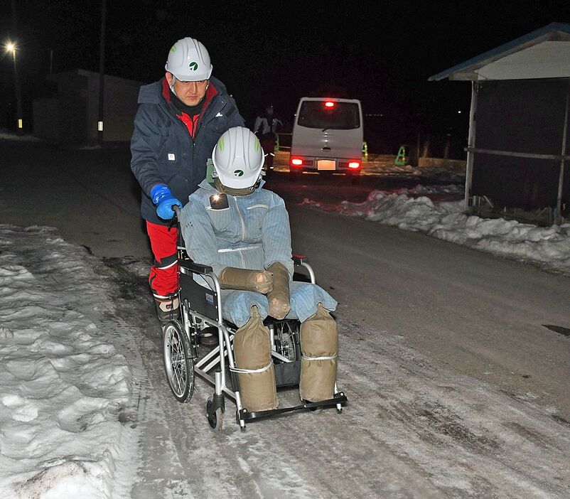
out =
<svg viewBox="0 0 570 499"><path fill-rule="evenodd" d="M301 382L299 395L310 402L335 395L338 331L330 313L318 304L316 313L301 323Z"/></svg>

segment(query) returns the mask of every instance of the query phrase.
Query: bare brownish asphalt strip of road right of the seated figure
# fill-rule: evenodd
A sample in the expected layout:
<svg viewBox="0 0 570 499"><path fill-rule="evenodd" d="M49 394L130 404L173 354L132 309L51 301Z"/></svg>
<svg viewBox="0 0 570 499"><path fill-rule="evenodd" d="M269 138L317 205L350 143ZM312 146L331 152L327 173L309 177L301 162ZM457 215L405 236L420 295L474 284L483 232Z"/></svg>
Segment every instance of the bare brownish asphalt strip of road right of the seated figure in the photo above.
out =
<svg viewBox="0 0 570 499"><path fill-rule="evenodd" d="M570 420L570 279L490 254L335 213L290 206L296 251L357 323L442 367ZM326 248L326 251L323 251ZM550 326L547 327L547 326Z"/></svg>

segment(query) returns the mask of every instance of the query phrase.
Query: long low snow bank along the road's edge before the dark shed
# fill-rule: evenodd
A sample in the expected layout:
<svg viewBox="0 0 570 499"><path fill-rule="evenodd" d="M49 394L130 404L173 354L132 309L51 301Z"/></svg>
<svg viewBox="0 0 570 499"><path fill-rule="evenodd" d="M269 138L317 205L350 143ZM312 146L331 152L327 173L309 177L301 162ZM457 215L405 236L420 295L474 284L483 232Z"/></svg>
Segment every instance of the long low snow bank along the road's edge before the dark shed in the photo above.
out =
<svg viewBox="0 0 570 499"><path fill-rule="evenodd" d="M570 275L570 224L538 227L515 220L468 216L461 213L463 200L434 203L427 197L446 191L453 193L453 189L423 186L400 193L372 191L364 203L343 201L336 210ZM419 193L426 195L414 197Z"/></svg>

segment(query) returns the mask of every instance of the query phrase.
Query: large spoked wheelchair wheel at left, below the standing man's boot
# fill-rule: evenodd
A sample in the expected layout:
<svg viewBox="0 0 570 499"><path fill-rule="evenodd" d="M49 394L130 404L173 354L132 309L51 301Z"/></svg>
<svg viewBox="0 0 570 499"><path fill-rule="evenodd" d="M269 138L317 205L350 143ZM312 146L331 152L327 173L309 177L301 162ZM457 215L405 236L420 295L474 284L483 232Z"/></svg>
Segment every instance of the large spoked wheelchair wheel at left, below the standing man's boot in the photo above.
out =
<svg viewBox="0 0 570 499"><path fill-rule="evenodd" d="M172 393L178 402L188 402L194 392L194 361L190 341L181 323L169 321L162 338L164 370Z"/></svg>

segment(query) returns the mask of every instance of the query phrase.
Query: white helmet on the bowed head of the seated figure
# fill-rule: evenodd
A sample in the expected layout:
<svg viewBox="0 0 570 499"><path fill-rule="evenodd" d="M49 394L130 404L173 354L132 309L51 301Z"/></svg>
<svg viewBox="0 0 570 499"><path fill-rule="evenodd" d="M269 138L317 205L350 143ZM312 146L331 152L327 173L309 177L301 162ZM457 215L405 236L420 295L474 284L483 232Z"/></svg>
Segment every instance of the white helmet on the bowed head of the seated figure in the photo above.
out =
<svg viewBox="0 0 570 499"><path fill-rule="evenodd" d="M259 180L263 167L262 145L249 128L230 128L214 146L212 162L217 178L225 187L252 187Z"/></svg>

